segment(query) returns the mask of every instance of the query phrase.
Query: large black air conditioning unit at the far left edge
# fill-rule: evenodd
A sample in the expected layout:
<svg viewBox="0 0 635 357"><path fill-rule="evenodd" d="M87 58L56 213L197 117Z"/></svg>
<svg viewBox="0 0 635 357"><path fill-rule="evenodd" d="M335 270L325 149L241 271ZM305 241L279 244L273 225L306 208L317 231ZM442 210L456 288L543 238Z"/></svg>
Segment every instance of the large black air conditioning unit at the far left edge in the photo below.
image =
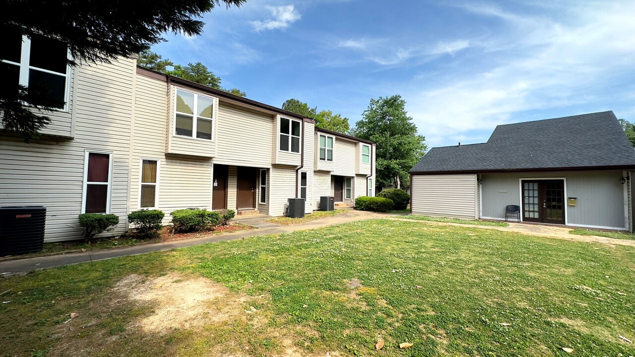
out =
<svg viewBox="0 0 635 357"><path fill-rule="evenodd" d="M0 207L0 257L42 250L45 224L44 206Z"/></svg>

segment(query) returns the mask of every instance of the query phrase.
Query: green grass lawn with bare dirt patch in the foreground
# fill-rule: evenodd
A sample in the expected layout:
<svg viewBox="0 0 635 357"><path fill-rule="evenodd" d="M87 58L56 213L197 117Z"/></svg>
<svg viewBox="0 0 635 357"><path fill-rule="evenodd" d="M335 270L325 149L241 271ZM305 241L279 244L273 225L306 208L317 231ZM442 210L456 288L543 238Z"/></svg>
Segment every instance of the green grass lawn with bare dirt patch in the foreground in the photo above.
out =
<svg viewBox="0 0 635 357"><path fill-rule="evenodd" d="M631 246L364 220L0 278L0 355L632 356L634 271Z"/></svg>

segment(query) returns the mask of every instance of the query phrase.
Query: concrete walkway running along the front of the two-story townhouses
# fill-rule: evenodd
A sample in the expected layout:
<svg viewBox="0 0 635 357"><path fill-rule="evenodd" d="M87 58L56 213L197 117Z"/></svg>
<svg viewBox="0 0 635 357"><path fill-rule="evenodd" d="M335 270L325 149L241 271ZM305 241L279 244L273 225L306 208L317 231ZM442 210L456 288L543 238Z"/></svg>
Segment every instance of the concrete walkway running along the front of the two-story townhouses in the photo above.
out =
<svg viewBox="0 0 635 357"><path fill-rule="evenodd" d="M18 274L25 273L36 269L47 269L50 267L65 266L69 264L77 264L83 262L93 262L95 260L104 260L116 257L124 257L126 255L137 255L150 252L160 252L162 250L171 250L183 248L185 246L199 245L203 243L228 241L232 239L241 239L251 236L264 236L267 234L280 234L293 231L303 231L305 229L316 229L334 224L342 224L346 222L354 222L357 220L385 218L385 214L351 211L337 216L324 219L312 220L293 226L280 226L267 222L266 219L271 217L256 217L253 220L242 219L240 223L256 226L259 229L255 231L241 231L227 234L217 234L210 236L202 236L197 238L182 239L177 241L166 241L161 243L116 247L104 250L87 250L86 252L67 253L59 255L46 255L44 257L33 257L25 259L13 259L0 261L0 274Z"/></svg>

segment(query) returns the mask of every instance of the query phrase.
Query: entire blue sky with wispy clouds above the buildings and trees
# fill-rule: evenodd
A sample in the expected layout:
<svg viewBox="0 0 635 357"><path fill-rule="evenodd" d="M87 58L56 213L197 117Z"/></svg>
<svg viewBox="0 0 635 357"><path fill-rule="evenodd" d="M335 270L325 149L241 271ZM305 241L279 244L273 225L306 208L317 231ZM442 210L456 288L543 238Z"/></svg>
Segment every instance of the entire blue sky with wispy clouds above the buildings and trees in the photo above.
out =
<svg viewBox="0 0 635 357"><path fill-rule="evenodd" d="M635 121L635 1L248 0L153 51L225 88L361 119L400 94L431 146L498 124L612 110Z"/></svg>

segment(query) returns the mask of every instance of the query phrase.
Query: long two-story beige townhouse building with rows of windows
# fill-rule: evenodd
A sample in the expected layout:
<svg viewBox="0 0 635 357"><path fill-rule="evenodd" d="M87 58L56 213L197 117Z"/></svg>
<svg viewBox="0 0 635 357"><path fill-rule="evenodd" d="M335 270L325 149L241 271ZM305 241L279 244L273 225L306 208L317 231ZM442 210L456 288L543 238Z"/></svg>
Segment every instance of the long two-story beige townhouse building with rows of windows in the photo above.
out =
<svg viewBox="0 0 635 357"><path fill-rule="evenodd" d="M112 234L120 234L128 213L143 208L163 210L168 223L182 208L279 216L289 198L306 198L311 213L320 196L374 195L372 142L134 58L49 68L38 41L67 55L55 41L25 38L2 65L15 66L24 85L48 74L45 82L58 83L51 95L67 104L47 113L52 123L38 140L0 134L0 206L46 206L46 241L81 238L81 213L116 214Z"/></svg>

